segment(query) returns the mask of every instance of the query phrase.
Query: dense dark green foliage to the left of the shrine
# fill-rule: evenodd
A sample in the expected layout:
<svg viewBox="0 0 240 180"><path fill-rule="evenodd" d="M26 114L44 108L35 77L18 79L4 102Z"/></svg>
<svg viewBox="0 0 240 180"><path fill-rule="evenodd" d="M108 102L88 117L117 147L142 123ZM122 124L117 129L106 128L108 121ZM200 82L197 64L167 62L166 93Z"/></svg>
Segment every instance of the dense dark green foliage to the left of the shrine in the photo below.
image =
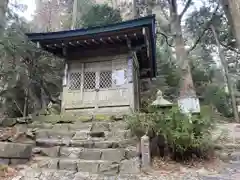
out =
<svg viewBox="0 0 240 180"><path fill-rule="evenodd" d="M27 40L29 25L24 20L14 13L8 18L11 23L0 39L3 114L19 117L47 107L49 102L59 104L63 61Z"/></svg>

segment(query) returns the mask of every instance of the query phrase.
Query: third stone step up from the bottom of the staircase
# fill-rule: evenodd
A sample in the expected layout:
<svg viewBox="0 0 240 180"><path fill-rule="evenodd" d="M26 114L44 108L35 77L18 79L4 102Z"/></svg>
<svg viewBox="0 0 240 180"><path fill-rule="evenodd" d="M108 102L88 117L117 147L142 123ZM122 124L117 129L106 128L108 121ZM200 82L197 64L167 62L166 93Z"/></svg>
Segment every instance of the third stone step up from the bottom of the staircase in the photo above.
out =
<svg viewBox="0 0 240 180"><path fill-rule="evenodd" d="M72 140L72 139L54 139L54 138L38 138L36 139L36 146L39 147L54 147L54 146L67 146L67 147L84 147L84 148L125 148L128 145L134 144L133 139L124 140Z"/></svg>

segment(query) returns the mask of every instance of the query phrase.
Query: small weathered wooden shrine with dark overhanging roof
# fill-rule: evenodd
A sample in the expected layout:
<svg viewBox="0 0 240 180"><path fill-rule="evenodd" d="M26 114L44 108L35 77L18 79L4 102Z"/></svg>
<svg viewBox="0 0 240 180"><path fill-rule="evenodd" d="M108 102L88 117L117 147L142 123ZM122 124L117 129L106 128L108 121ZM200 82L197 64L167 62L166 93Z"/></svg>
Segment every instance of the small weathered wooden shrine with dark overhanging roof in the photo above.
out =
<svg viewBox="0 0 240 180"><path fill-rule="evenodd" d="M137 111L140 80L156 76L154 16L26 35L44 50L65 59L62 111Z"/></svg>

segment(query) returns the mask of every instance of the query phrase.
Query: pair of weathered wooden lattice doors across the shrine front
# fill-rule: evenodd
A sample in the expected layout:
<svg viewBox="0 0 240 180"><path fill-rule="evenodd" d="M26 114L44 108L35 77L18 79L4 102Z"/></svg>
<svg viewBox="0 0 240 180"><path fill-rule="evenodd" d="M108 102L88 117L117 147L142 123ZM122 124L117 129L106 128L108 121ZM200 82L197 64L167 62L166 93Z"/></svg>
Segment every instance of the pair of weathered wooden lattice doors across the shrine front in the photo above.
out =
<svg viewBox="0 0 240 180"><path fill-rule="evenodd" d="M81 67L69 73L67 101L71 107L129 105L126 59L84 63Z"/></svg>

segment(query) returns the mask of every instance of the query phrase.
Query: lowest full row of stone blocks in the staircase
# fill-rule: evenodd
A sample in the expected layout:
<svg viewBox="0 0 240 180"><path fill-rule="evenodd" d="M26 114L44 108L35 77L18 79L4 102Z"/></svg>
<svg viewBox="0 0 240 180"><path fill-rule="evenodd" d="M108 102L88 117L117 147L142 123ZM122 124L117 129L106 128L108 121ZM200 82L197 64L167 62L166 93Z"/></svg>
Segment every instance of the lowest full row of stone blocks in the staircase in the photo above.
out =
<svg viewBox="0 0 240 180"><path fill-rule="evenodd" d="M35 168L89 172L94 174L117 175L140 173L138 159L123 160L120 163L105 160L83 160L69 158L34 157Z"/></svg>

